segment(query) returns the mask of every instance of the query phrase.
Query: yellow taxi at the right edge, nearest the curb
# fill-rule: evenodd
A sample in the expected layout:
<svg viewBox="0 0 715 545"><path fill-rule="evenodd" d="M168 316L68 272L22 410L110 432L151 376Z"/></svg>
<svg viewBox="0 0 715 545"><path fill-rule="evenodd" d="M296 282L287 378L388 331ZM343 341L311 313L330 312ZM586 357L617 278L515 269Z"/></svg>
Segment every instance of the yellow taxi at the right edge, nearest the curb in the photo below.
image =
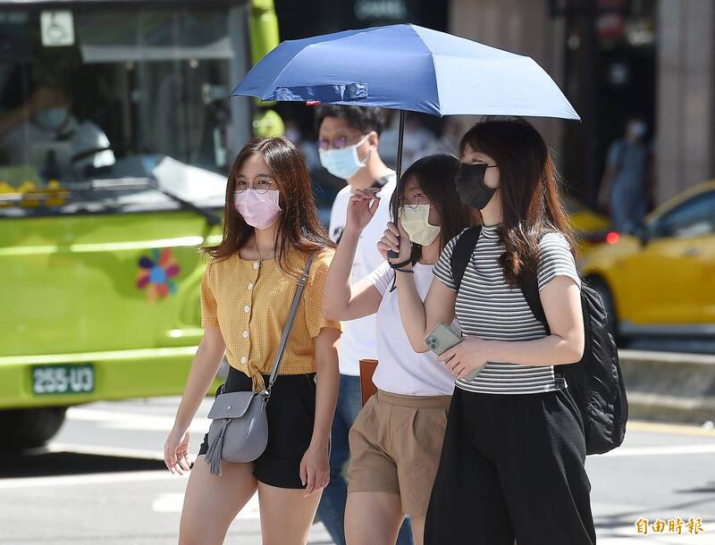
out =
<svg viewBox="0 0 715 545"><path fill-rule="evenodd" d="M660 205L633 233L610 232L581 269L621 340L715 336L715 180Z"/></svg>

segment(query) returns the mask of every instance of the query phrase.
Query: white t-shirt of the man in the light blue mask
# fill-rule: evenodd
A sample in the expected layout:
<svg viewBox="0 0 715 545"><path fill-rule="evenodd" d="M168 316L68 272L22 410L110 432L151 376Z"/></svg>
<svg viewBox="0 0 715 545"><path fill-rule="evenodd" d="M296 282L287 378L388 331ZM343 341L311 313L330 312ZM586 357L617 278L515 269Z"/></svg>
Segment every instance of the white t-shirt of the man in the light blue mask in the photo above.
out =
<svg viewBox="0 0 715 545"><path fill-rule="evenodd" d="M395 190L394 172L388 178L389 181L383 185L383 189L380 191L380 205L357 241L355 261L352 264L351 282L353 283L362 280L384 263L383 256L377 251L377 242L383 238L385 226L390 221L390 199ZM348 203L351 196L350 186L346 186L340 190L332 203L330 236L335 242L340 240L342 230L348 221ZM342 323L341 342L338 349L341 374L358 376L360 360L377 357L375 327L374 315Z"/></svg>

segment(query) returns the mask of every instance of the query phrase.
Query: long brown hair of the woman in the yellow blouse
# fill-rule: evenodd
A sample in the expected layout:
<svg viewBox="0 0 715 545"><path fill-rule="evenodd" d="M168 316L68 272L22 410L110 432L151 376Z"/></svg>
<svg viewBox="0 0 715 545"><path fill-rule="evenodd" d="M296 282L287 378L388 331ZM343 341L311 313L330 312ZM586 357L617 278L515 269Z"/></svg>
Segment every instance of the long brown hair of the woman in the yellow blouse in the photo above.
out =
<svg viewBox="0 0 715 545"><path fill-rule="evenodd" d="M307 165L288 138L257 138L244 146L231 166L226 184L226 204L223 207L223 240L217 246L206 247L209 256L226 259L239 251L254 232L234 205L236 179L248 157L258 155L268 165L281 193L279 205L282 214L275 234L276 247L280 246L277 260L283 272L298 276L300 271L288 261L290 248L314 254L326 247L334 247L327 231L318 221L315 201L310 185ZM280 243L279 243L280 240Z"/></svg>

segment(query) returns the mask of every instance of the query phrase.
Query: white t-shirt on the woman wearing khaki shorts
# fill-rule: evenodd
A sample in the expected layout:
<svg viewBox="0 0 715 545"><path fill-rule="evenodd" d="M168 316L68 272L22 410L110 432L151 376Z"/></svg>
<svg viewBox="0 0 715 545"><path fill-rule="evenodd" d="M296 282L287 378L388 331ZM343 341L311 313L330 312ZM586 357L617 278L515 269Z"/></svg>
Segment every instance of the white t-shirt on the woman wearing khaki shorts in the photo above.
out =
<svg viewBox="0 0 715 545"><path fill-rule="evenodd" d="M415 285L424 301L433 281L433 265L415 264ZM417 354L409 344L402 326L397 289L390 291L395 273L383 263L367 280L382 294L377 310L377 369L374 385L380 390L408 396L450 396L454 390L454 376L432 352ZM452 331L458 332L457 323Z"/></svg>

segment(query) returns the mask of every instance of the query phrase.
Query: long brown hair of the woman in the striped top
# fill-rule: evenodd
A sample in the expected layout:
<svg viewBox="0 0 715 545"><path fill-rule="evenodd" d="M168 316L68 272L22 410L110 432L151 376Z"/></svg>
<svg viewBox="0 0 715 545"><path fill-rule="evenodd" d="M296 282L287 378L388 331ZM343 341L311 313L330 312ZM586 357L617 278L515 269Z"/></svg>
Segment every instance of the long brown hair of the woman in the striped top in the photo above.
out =
<svg viewBox="0 0 715 545"><path fill-rule="evenodd" d="M517 286L525 270L536 272L539 240L547 232L563 234L576 256L574 234L559 197L559 172L539 132L523 120L480 122L462 137L460 156L467 144L499 165L499 236L506 248L500 263L506 281Z"/></svg>

